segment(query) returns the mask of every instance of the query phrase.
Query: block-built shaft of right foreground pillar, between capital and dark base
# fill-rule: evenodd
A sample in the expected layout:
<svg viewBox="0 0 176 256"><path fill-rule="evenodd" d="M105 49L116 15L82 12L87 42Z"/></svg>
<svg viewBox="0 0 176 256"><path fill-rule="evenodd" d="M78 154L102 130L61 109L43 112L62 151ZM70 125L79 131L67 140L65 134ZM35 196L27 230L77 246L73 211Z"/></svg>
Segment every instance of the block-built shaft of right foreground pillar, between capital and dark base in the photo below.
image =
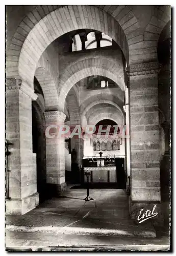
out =
<svg viewBox="0 0 176 256"><path fill-rule="evenodd" d="M141 192L143 200L160 200L157 75L131 78L130 118L133 200L138 200ZM148 175L153 182L147 182Z"/></svg>

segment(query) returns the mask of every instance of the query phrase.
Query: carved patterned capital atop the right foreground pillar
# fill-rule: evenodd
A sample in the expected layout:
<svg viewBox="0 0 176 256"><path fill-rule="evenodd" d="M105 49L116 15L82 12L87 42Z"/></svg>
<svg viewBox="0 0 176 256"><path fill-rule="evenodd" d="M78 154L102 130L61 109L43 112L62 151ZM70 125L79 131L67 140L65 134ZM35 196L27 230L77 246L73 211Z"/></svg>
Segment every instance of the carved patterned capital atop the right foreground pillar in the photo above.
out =
<svg viewBox="0 0 176 256"><path fill-rule="evenodd" d="M158 61L131 64L125 69L128 76L150 75L159 72Z"/></svg>

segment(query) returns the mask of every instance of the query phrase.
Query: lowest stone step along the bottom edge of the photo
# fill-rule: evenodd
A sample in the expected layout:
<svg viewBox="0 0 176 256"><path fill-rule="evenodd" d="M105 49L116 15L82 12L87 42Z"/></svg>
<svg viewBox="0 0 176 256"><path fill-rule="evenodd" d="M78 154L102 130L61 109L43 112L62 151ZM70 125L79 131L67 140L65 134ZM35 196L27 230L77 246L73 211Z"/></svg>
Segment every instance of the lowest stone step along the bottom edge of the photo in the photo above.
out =
<svg viewBox="0 0 176 256"><path fill-rule="evenodd" d="M75 236L46 232L6 232L6 250L15 251L115 251L169 249L169 237Z"/></svg>

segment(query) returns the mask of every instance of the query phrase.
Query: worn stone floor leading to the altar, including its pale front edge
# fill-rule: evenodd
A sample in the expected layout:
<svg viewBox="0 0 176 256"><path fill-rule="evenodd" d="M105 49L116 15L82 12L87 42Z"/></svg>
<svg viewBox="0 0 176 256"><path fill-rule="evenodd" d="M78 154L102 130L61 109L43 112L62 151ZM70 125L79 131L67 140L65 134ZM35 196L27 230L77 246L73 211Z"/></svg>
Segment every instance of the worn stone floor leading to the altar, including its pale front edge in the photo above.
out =
<svg viewBox="0 0 176 256"><path fill-rule="evenodd" d="M7 216L6 238L9 246L11 242L14 245L15 241L21 239L25 240L26 246L29 246L26 237L29 237L31 241L30 246L38 246L41 242L40 238L44 240L44 233L46 237L53 237L53 241L56 241L54 243L46 239L44 242L46 246L57 244L57 240L54 240L55 236L59 236L62 246L70 244L87 246L85 243L75 242L83 235L89 238L89 245L94 244L91 244L90 236L95 238L94 242L96 239L104 241L100 237L107 236L111 240L115 236L118 241L122 241L120 237L124 239L140 237L141 241L143 237L156 239L156 230L152 226L137 225L130 219L128 196L124 190L92 189L91 195L94 200L85 202L83 200L85 189L67 189L60 198L49 199L26 215ZM25 233L26 237L22 237L22 233ZM12 241L10 234L16 234ZM34 239L31 238L31 234ZM68 241L61 240L61 237L66 234L70 235L70 244ZM83 241L86 241L86 238ZM95 244L98 244L97 241ZM107 246L110 244L110 242L106 243ZM19 241L16 246L18 245L20 246Z"/></svg>

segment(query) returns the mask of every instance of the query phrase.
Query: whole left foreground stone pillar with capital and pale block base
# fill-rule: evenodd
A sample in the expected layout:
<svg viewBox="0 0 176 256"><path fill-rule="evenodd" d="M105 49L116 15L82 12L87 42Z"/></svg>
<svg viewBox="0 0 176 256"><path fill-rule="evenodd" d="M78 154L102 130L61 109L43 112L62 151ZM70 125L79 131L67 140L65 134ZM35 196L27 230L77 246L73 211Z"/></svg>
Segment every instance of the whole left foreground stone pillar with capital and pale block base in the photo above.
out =
<svg viewBox="0 0 176 256"><path fill-rule="evenodd" d="M32 99L34 90L24 81L7 78L6 138L9 146L9 196L7 215L23 215L39 204L32 152Z"/></svg>

